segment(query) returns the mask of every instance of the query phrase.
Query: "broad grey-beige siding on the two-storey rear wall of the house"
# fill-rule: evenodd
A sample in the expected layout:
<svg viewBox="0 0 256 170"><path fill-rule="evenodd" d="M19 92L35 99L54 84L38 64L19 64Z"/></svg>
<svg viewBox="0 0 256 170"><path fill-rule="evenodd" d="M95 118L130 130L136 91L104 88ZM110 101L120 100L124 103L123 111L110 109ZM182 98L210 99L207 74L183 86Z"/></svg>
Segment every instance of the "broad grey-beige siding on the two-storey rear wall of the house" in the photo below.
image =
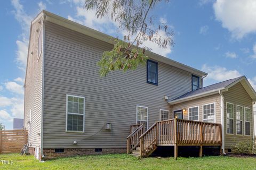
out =
<svg viewBox="0 0 256 170"><path fill-rule="evenodd" d="M137 105L148 107L150 127L159 120L159 109L170 111L165 95L174 99L191 90L191 73L161 62L158 86L146 83L146 66L100 78L97 62L110 44L45 24L44 148L126 147ZM65 132L67 94L85 97L84 133Z"/></svg>

